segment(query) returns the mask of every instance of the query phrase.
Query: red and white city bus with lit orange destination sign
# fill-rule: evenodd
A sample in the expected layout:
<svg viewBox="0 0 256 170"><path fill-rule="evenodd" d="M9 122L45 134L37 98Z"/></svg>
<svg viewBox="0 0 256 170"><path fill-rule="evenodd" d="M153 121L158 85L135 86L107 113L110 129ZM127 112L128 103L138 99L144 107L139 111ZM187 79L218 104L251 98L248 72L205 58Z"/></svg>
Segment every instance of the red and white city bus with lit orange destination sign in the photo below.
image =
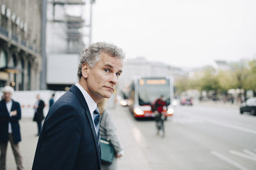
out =
<svg viewBox="0 0 256 170"><path fill-rule="evenodd" d="M173 115L173 79L170 77L134 78L130 85L129 110L135 118L154 117L152 106L160 96L166 103L165 119Z"/></svg>

